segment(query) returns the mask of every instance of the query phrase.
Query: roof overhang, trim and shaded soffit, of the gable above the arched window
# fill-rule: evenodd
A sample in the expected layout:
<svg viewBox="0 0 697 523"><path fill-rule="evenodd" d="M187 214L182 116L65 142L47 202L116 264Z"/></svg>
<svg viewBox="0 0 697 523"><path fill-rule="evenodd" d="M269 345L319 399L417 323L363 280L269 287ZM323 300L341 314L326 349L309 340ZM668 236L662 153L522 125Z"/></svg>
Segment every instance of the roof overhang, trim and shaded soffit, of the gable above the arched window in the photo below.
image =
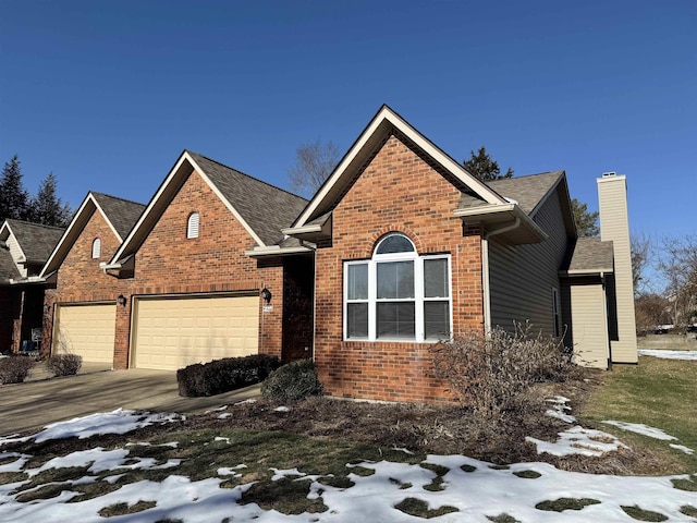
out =
<svg viewBox="0 0 697 523"><path fill-rule="evenodd" d="M319 216L331 211L341 198L345 187L353 181L355 174L369 160L375 150L381 146L382 141L395 132L405 136L437 165L462 182L464 186L469 187L473 194L486 204L506 203L496 191L473 177L462 165L437 147L390 107L383 105L344 155L334 171L317 191L292 228L302 228Z"/></svg>

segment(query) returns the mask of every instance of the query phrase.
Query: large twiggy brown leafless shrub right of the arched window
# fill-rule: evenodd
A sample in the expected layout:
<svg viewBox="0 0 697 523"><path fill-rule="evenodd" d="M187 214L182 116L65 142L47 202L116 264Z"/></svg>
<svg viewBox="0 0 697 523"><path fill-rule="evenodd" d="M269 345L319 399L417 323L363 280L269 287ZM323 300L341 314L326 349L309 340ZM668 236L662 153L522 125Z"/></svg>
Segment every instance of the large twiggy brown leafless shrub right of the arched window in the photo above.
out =
<svg viewBox="0 0 697 523"><path fill-rule="evenodd" d="M519 408L533 384L563 381L573 367L558 340L530 336L530 327L518 324L513 333L501 328L488 337L466 332L433 345L432 353L436 375L486 417Z"/></svg>

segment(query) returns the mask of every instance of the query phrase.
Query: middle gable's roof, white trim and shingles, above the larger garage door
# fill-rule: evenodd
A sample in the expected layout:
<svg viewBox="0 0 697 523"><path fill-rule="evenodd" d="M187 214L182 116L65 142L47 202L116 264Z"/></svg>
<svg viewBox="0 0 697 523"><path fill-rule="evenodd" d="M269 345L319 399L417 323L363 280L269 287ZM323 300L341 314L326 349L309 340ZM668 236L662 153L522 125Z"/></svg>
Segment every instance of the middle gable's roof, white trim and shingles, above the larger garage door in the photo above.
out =
<svg viewBox="0 0 697 523"><path fill-rule="evenodd" d="M135 254L194 171L199 173L261 247L280 243L283 240L281 229L290 226L307 205L307 200L301 196L185 149L108 264L108 268L118 268L122 260Z"/></svg>

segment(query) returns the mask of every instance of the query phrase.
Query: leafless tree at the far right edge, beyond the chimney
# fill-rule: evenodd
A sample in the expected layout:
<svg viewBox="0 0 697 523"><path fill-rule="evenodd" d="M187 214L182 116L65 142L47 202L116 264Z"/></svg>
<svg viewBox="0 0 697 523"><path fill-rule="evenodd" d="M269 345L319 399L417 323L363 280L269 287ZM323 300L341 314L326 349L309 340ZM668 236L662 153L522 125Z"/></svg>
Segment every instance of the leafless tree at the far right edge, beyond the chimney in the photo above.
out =
<svg viewBox="0 0 697 523"><path fill-rule="evenodd" d="M684 328L697 316L697 234L663 240L658 270L668 282L672 323Z"/></svg>

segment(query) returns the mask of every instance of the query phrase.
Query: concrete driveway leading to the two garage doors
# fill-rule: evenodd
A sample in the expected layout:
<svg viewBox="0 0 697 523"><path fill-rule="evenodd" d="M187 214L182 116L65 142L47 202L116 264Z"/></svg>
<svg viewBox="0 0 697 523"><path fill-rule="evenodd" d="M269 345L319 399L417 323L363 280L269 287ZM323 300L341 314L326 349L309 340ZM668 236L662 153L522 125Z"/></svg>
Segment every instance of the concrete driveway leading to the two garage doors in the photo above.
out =
<svg viewBox="0 0 697 523"><path fill-rule="evenodd" d="M108 370L85 364L77 376L49 379L39 367L24 384L0 386L0 436L115 409L203 413L257 397L259 389L256 385L210 398L182 398L174 372Z"/></svg>

